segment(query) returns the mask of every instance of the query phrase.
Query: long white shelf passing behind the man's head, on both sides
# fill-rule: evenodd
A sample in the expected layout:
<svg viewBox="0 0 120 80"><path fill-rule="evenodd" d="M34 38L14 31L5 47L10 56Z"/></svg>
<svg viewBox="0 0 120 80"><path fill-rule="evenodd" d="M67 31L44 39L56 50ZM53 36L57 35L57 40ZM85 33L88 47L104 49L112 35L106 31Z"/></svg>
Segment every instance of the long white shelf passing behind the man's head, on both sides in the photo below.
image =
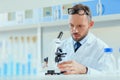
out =
<svg viewBox="0 0 120 80"><path fill-rule="evenodd" d="M101 26L112 26L112 25L119 25L120 23L120 14L115 15L104 15L104 16L96 16L93 17L95 22L95 27ZM16 25L16 26L5 26L0 27L0 32L2 31L10 31L10 30L20 30L20 29L32 29L38 27L53 27L53 26L68 26L68 20L61 20L61 21L53 21L53 22L44 22L39 24L26 24L26 25Z"/></svg>

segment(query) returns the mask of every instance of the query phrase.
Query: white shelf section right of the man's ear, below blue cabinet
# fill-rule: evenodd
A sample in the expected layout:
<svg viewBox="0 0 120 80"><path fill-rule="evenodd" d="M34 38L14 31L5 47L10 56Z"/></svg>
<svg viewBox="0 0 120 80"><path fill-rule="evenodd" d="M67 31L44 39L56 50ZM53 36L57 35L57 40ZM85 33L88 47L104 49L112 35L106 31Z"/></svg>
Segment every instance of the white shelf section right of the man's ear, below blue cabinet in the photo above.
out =
<svg viewBox="0 0 120 80"><path fill-rule="evenodd" d="M93 17L96 27L120 26L120 14Z"/></svg>

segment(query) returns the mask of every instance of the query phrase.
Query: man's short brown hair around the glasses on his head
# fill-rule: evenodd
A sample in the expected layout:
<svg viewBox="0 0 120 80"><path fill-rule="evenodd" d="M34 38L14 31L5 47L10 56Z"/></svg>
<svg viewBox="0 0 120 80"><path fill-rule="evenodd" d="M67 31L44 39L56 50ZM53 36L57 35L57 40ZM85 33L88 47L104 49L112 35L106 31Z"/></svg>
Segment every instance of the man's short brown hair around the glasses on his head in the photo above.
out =
<svg viewBox="0 0 120 80"><path fill-rule="evenodd" d="M87 13L90 20L92 19L91 11L90 11L90 8L88 6L83 5L83 4L76 4L72 8L75 9L75 10L83 9Z"/></svg>

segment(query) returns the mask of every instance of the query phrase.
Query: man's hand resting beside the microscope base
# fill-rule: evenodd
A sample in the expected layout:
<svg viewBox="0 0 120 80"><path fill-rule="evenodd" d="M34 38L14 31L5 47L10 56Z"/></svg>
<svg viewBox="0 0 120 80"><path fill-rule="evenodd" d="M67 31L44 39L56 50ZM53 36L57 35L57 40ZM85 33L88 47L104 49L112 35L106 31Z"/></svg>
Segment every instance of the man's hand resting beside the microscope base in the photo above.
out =
<svg viewBox="0 0 120 80"><path fill-rule="evenodd" d="M87 67L75 61L65 61L58 64L58 68L63 74L86 74Z"/></svg>

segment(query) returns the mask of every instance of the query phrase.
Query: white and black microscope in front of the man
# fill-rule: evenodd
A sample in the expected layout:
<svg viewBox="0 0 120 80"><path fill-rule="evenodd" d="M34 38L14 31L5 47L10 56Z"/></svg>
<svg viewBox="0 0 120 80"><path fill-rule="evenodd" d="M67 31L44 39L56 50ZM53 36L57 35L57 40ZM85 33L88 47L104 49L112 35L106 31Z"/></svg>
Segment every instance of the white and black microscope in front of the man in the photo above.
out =
<svg viewBox="0 0 120 80"><path fill-rule="evenodd" d="M53 54L53 57L54 59L52 59L52 61L50 62L50 66L48 65L48 70L47 70L47 73L45 73L45 75L60 75L62 74L63 72L60 72L59 69L57 68L57 64L62 61L62 58L65 57L65 55L67 53L63 53L62 52L62 49L60 48L60 39L63 35L63 32L60 32L57 39L55 40L55 51L54 51L54 54ZM49 59L48 61L49 62ZM51 67L52 66L52 67Z"/></svg>

